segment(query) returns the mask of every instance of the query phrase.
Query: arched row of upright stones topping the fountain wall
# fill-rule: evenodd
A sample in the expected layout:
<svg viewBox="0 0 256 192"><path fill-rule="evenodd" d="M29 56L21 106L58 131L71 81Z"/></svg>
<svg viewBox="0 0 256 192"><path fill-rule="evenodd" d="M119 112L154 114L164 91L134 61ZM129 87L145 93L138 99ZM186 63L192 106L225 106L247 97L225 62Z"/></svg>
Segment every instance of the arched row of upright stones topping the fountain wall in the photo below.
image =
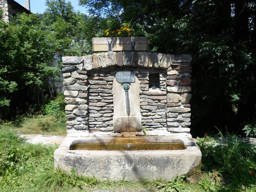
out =
<svg viewBox="0 0 256 192"><path fill-rule="evenodd" d="M88 56L62 57L65 65L81 65L85 70L103 69L110 66L150 67L168 69L171 65L190 64L192 57L189 54L174 56L171 54L150 52L102 52Z"/></svg>

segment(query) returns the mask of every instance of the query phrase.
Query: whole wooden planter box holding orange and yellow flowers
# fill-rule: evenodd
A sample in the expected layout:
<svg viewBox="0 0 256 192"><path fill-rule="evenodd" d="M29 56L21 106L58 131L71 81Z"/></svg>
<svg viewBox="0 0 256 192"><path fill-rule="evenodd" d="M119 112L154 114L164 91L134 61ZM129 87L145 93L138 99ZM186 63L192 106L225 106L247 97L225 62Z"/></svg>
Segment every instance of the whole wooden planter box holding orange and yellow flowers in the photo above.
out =
<svg viewBox="0 0 256 192"><path fill-rule="evenodd" d="M93 51L147 51L147 37L92 38Z"/></svg>

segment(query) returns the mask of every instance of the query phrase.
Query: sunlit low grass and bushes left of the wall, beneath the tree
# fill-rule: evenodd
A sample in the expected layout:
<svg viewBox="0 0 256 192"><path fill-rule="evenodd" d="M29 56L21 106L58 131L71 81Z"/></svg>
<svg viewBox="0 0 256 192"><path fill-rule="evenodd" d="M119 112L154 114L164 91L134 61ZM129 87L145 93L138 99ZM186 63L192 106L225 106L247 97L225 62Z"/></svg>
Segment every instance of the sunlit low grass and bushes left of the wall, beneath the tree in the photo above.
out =
<svg viewBox="0 0 256 192"><path fill-rule="evenodd" d="M26 115L17 116L13 121L2 120L0 130L13 130L20 134L66 135L64 95L58 94L54 100L46 102L42 112L30 109Z"/></svg>

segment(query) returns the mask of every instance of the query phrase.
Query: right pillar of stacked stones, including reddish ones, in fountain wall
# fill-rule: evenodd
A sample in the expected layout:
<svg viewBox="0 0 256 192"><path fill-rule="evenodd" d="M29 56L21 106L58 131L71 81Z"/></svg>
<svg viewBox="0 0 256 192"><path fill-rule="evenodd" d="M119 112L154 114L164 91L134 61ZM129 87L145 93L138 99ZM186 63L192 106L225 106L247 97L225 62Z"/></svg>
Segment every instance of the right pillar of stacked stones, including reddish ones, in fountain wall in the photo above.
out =
<svg viewBox="0 0 256 192"><path fill-rule="evenodd" d="M167 130L173 134L190 136L190 99L191 65L190 55L178 55L172 58L167 69Z"/></svg>

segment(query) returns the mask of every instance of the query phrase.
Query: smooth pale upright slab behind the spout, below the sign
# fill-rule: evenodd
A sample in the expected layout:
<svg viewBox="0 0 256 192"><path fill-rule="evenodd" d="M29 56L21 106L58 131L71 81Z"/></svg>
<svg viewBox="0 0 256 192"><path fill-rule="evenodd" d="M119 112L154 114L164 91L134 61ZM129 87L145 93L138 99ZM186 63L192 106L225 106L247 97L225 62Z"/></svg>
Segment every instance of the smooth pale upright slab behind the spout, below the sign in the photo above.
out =
<svg viewBox="0 0 256 192"><path fill-rule="evenodd" d="M136 77L128 90L130 115L126 111L126 94L121 83L113 82L114 132L138 132L141 130L140 83Z"/></svg>

